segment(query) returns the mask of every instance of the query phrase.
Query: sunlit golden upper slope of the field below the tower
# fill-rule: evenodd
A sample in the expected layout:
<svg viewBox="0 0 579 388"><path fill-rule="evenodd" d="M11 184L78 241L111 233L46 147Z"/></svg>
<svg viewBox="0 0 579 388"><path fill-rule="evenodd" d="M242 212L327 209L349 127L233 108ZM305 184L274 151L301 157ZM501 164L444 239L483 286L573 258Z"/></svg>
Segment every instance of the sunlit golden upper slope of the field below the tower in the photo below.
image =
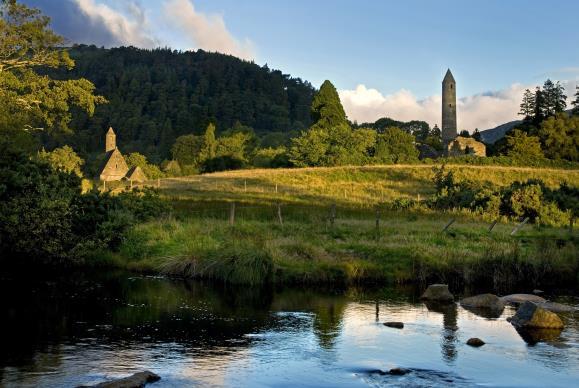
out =
<svg viewBox="0 0 579 388"><path fill-rule="evenodd" d="M162 194L193 201L274 202L372 207L398 198L425 199L434 193L432 165L389 165L300 169L257 169L162 180ZM541 179L549 187L579 185L579 170L447 165L459 180L507 186ZM276 192L277 186L277 192Z"/></svg>

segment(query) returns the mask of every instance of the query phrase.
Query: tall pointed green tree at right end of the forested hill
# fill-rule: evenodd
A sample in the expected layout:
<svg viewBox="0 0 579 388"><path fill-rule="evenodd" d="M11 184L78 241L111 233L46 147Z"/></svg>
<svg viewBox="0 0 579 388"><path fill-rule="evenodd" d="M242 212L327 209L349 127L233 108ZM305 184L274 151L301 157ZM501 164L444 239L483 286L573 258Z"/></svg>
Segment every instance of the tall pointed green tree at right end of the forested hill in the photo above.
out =
<svg viewBox="0 0 579 388"><path fill-rule="evenodd" d="M346 112L340 102L340 96L330 81L324 81L320 90L314 96L311 116L314 126L323 129L348 125Z"/></svg>

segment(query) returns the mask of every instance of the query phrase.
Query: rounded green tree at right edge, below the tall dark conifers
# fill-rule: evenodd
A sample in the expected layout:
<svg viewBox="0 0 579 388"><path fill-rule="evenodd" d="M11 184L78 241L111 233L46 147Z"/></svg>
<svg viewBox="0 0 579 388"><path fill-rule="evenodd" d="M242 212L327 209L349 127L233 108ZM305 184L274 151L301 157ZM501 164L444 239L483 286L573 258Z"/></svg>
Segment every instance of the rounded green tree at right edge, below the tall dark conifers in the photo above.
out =
<svg viewBox="0 0 579 388"><path fill-rule="evenodd" d="M579 161L579 116L549 117L541 123L539 138L548 158Z"/></svg>

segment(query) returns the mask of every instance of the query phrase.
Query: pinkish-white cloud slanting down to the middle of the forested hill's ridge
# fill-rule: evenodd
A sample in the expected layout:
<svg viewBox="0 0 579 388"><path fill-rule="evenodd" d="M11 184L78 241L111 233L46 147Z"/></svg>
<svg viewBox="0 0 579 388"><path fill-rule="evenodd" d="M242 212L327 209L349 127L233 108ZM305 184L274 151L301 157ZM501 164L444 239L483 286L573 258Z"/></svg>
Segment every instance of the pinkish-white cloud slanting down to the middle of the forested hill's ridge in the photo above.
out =
<svg viewBox="0 0 579 388"><path fill-rule="evenodd" d="M235 39L221 15L198 12L189 0L170 0L164 9L166 16L186 34L191 48L218 51L244 59L254 58L251 41Z"/></svg>

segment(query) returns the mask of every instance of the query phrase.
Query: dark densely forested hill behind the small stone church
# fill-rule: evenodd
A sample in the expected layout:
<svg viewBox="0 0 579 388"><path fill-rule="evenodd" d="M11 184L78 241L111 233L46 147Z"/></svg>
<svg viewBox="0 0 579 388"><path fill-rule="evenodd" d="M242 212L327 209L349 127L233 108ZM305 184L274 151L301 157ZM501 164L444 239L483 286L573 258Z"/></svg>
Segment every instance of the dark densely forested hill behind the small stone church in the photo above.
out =
<svg viewBox="0 0 579 388"><path fill-rule="evenodd" d="M70 55L76 67L54 75L87 78L109 100L90 119L74 115L75 134L63 141L81 153L100 151L109 125L124 152L153 161L169 157L178 136L200 134L209 122L218 131L241 124L258 134L310 125L310 83L233 56L95 46L75 46Z"/></svg>

